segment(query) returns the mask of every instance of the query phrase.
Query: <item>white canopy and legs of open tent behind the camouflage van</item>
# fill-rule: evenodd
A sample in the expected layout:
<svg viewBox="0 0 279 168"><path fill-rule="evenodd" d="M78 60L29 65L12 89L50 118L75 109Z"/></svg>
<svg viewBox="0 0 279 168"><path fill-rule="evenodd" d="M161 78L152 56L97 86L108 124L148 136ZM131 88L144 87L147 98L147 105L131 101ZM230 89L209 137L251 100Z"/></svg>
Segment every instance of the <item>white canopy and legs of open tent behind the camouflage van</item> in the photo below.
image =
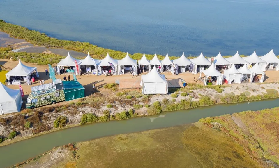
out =
<svg viewBox="0 0 279 168"><path fill-rule="evenodd" d="M36 76L39 77L36 67L28 67L23 65L22 62L18 60L17 66L6 73L6 78L9 80L11 76L25 76L27 84L30 85L30 74L34 71L36 72Z"/></svg>

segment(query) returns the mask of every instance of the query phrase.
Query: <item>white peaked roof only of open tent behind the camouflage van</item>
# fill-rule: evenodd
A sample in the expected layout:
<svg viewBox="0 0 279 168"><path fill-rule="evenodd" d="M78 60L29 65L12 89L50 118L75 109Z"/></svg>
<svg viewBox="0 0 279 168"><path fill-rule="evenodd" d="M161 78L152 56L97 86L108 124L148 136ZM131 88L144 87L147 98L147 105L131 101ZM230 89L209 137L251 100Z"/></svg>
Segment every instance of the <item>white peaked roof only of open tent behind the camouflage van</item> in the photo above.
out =
<svg viewBox="0 0 279 168"><path fill-rule="evenodd" d="M31 74L34 70L36 70L36 67L28 67L26 65L23 65L21 61L18 61L18 64L16 67L14 67L12 70L10 70L6 75L9 76L27 76Z"/></svg>

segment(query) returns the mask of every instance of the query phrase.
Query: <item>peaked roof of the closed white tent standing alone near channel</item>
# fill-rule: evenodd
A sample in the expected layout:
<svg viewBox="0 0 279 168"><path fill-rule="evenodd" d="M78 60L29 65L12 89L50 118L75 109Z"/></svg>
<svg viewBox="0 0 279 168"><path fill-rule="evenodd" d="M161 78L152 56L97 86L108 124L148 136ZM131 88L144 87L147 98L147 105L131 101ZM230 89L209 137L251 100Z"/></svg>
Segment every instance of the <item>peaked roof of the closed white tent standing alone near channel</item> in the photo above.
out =
<svg viewBox="0 0 279 168"><path fill-rule="evenodd" d="M159 74L159 72L156 70L156 67L153 67L153 69L146 75L142 75L142 83L166 83L167 80L165 78L165 75Z"/></svg>

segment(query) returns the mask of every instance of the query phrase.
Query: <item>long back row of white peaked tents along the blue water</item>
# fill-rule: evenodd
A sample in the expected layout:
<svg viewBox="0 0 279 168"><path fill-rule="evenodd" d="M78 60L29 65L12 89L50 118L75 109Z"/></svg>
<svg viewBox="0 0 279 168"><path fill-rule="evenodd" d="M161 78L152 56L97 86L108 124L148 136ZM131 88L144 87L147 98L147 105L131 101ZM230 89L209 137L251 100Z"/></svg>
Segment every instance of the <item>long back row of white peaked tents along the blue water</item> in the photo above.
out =
<svg viewBox="0 0 279 168"><path fill-rule="evenodd" d="M141 65L145 65L149 71L151 70L151 65L172 65L174 66L177 64L178 66L193 66L192 73L197 74L197 72L201 71L204 66L209 66L211 65L211 59L207 59L203 56L201 53L197 58L193 59L188 59L184 55L184 52L181 57L175 60L170 60L168 54L165 56L163 60L159 60L157 55L151 59L147 60L145 54L143 54L142 58L138 61L130 58L130 56L127 55L121 59L121 60L115 60L109 56L109 53L107 53L107 56L104 59L97 60L91 58L91 56L88 55L86 56L85 59L79 60L75 59L70 56L70 53L68 53L68 56L65 59L62 59L58 64L57 67L60 69L61 67L67 67L67 66L76 66L75 61L77 62L78 66L95 66L96 70L96 75L98 75L98 67L110 67L110 63L114 66L116 70L116 74L121 74L121 67L122 66L131 66L134 65L135 69L137 67L140 67ZM267 66L269 64L273 64L276 70L279 70L279 59L276 57L274 54L273 50L271 50L269 53L267 53L264 56L257 56L256 51L254 51L250 56L247 57L240 57L238 51L236 54L232 57L229 58L223 58L221 53L214 57L214 65L228 65L228 67L231 67L232 64L237 65L237 64L248 64L248 65L255 65L255 63L259 64L259 67L262 71L267 70ZM76 75L78 75L78 72L75 72ZM60 74L58 70L58 74ZM137 74L137 70L135 70L134 75Z"/></svg>

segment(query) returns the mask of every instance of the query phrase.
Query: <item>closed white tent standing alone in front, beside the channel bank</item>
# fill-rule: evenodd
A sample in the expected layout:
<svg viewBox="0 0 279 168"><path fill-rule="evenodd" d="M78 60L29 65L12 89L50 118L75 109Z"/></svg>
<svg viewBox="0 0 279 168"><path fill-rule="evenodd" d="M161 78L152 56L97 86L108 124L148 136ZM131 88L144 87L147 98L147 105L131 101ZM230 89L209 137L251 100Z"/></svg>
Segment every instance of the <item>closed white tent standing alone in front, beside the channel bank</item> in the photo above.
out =
<svg viewBox="0 0 279 168"><path fill-rule="evenodd" d="M165 75L159 74L156 67L146 75L142 75L142 94L167 94L167 80Z"/></svg>

